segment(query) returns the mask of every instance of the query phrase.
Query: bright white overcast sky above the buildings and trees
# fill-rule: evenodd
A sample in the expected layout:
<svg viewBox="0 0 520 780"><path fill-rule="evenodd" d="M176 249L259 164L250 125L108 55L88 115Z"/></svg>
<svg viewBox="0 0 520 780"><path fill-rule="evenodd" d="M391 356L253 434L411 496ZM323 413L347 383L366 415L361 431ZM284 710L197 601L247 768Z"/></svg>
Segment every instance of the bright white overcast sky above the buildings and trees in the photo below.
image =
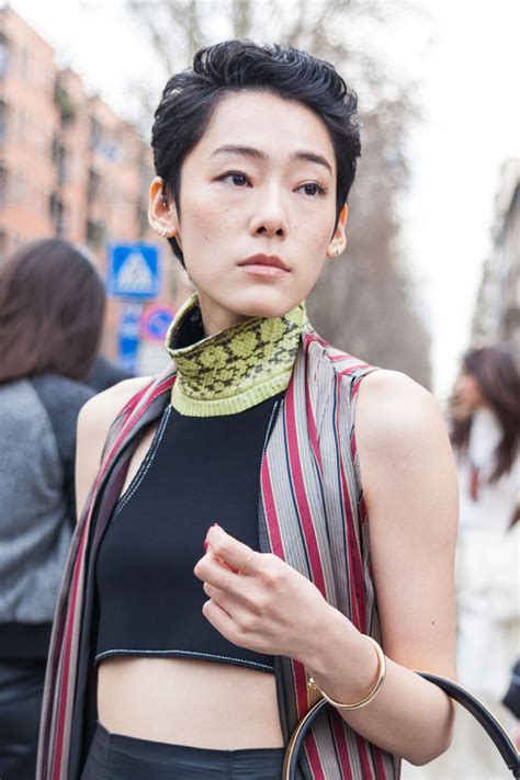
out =
<svg viewBox="0 0 520 780"><path fill-rule="evenodd" d="M410 137L412 184L403 230L418 306L433 337L434 391L442 400L468 344L500 165L520 156L520 2L414 3L423 13L388 26L377 46L388 67L422 83L423 118ZM121 0L11 4L115 111L132 110L128 82L156 71Z"/></svg>

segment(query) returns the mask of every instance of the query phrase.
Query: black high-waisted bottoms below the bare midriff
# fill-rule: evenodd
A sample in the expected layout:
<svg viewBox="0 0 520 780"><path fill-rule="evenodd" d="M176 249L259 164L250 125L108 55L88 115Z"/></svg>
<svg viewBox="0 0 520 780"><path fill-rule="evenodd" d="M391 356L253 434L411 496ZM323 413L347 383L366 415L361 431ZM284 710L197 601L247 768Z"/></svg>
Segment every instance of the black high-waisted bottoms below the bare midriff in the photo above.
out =
<svg viewBox="0 0 520 780"><path fill-rule="evenodd" d="M283 748L208 750L109 734L98 723L81 780L280 780Z"/></svg>

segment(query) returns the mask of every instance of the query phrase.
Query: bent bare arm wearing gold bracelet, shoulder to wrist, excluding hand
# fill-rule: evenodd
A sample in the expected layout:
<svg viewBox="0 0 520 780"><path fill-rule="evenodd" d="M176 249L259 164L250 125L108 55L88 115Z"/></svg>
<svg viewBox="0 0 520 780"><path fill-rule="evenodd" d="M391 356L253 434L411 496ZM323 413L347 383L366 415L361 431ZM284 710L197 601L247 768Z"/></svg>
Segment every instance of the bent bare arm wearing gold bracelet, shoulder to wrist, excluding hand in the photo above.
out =
<svg viewBox="0 0 520 780"><path fill-rule="evenodd" d="M453 706L410 669L455 677L453 457L432 396L395 372L363 380L355 430L388 663L374 701L341 714L376 745L426 764L450 744ZM357 701L374 682L374 651L339 613L327 625L307 668L329 697Z"/></svg>

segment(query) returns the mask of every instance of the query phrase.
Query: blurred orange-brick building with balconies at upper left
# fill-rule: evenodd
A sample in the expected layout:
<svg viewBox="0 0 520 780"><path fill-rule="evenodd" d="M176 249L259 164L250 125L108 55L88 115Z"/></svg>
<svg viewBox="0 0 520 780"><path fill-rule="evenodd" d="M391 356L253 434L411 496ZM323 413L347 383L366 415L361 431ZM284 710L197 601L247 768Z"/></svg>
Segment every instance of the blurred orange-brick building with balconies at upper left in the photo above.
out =
<svg viewBox="0 0 520 780"><path fill-rule="evenodd" d="M161 252L159 303L179 303L185 278L147 222L151 177L137 129L58 69L49 44L0 3L0 262L25 241L59 236L87 246L104 273L109 244L143 240ZM109 305L112 355L121 306Z"/></svg>

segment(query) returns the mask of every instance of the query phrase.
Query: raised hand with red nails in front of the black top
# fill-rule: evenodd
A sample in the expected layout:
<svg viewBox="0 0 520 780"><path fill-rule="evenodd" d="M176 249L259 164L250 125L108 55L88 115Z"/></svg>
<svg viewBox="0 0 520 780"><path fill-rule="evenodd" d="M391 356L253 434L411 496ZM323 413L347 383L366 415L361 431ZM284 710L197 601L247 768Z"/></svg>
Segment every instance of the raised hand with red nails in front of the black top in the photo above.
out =
<svg viewBox="0 0 520 780"><path fill-rule="evenodd" d="M219 525L212 525L206 543L194 573L210 597L203 607L210 623L240 647L310 662L337 612L319 590L276 555L251 551Z"/></svg>

